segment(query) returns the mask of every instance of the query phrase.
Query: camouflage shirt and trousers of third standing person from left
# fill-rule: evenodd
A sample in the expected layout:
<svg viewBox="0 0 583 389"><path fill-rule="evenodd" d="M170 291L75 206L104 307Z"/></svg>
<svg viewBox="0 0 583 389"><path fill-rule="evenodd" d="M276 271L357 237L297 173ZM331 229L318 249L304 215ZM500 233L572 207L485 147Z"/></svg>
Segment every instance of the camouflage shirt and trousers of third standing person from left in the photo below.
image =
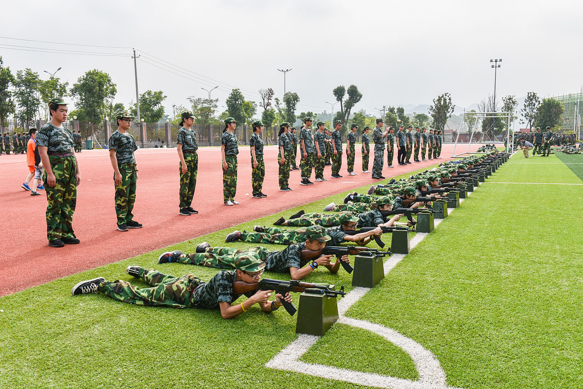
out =
<svg viewBox="0 0 583 389"><path fill-rule="evenodd" d="M180 171L180 204L178 208L188 208L192 204L192 197L194 197L194 190L196 188L196 176L198 174L198 144L196 143L196 132L194 129L186 129L184 127L178 130L176 135L176 143L182 145L182 155L186 163L186 173L182 173L182 161L178 164L178 171Z"/></svg>

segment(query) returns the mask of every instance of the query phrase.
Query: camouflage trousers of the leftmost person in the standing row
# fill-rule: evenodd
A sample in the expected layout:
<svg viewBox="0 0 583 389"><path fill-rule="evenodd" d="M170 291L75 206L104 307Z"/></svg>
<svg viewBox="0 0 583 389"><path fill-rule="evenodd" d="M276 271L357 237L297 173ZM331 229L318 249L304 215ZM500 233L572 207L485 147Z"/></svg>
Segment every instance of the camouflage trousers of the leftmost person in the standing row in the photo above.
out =
<svg viewBox="0 0 583 389"><path fill-rule="evenodd" d="M74 238L73 213L77 205L77 172L75 157L49 156L55 186L45 187L47 192L47 239ZM43 172L47 182L47 170Z"/></svg>

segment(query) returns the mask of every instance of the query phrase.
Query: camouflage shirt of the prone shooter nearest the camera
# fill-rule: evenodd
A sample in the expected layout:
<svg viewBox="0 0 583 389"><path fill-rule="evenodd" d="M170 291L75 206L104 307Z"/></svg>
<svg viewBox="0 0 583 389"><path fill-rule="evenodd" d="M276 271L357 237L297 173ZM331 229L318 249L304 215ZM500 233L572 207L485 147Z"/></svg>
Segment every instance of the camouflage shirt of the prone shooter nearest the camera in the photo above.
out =
<svg viewBox="0 0 583 389"><path fill-rule="evenodd" d="M213 309L219 307L219 303L232 303L241 295L233 295L233 282L237 271L222 270L218 272L209 282L201 282L192 292L191 306L196 308ZM256 291L245 293L250 297Z"/></svg>

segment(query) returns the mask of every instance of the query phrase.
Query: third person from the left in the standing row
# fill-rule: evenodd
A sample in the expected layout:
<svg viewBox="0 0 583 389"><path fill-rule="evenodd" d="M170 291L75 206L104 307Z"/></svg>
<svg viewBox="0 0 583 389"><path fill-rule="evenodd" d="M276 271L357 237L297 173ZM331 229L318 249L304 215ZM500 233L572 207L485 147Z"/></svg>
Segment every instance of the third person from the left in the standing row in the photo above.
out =
<svg viewBox="0 0 583 389"><path fill-rule="evenodd" d="M180 215L190 216L198 213L192 209L192 197L196 188L196 175L198 174L198 144L196 144L196 132L192 129L194 116L191 111L184 111L181 115L180 125L176 136L176 149L180 158Z"/></svg>

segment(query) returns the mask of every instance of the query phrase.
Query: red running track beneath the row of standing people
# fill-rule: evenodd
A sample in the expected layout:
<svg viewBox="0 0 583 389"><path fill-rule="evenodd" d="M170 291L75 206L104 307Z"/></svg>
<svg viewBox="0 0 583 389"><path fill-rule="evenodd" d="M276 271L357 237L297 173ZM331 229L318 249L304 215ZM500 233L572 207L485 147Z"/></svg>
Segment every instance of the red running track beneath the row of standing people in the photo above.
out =
<svg viewBox="0 0 583 389"><path fill-rule="evenodd" d="M475 151L478 147L472 145L470 150ZM442 159L438 161L451 159L448 156L452 148L453 145L444 145ZM41 191L43 196L31 197L30 192L20 188L28 172L26 155L0 155L0 212L3 215L0 296L378 181L373 180L370 173L361 173L361 155L357 150L354 164L357 176L347 175L346 155L343 155L342 178L330 178L331 169L326 166L324 174L328 181L304 186L300 185L300 171L293 170L290 187L294 190L280 192L277 153L275 146L265 148L263 191L269 197L254 199L251 197L249 149L240 147L236 199L241 204L226 206L223 205L220 149L199 149L198 181L192 204L199 213L180 216L176 149L139 149L135 153L139 179L134 218L144 227L119 232L115 229L113 169L108 152L85 150L78 154L82 182L78 187L77 208L73 216L73 229L81 243L62 248L53 248L47 243L47 198L44 191ZM412 163L393 169L385 166L383 172L388 178L436 162ZM312 181L313 178L312 173Z"/></svg>

